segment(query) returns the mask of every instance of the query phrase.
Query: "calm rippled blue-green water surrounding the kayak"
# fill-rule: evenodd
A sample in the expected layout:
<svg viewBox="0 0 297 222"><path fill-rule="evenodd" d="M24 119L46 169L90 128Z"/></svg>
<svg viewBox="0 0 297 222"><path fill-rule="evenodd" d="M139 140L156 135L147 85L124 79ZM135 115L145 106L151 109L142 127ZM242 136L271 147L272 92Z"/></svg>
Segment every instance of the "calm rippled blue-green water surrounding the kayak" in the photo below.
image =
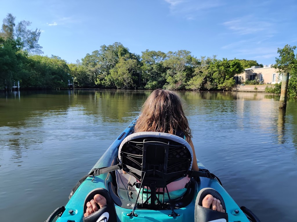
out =
<svg viewBox="0 0 297 222"><path fill-rule="evenodd" d="M198 159L262 222L297 221L297 102L178 92ZM140 111L150 91L0 93L0 221L45 221Z"/></svg>

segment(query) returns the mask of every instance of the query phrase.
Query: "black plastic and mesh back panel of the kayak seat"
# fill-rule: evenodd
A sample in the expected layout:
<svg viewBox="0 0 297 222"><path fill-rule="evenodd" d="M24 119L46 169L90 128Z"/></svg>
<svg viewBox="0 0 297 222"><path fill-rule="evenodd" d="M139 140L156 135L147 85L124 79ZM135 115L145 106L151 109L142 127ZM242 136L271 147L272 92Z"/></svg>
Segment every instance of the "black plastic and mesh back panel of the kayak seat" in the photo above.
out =
<svg viewBox="0 0 297 222"><path fill-rule="evenodd" d="M123 169L143 186L165 188L170 182L187 176L192 167L192 150L183 139L174 141L169 137L143 135L123 142L119 150Z"/></svg>

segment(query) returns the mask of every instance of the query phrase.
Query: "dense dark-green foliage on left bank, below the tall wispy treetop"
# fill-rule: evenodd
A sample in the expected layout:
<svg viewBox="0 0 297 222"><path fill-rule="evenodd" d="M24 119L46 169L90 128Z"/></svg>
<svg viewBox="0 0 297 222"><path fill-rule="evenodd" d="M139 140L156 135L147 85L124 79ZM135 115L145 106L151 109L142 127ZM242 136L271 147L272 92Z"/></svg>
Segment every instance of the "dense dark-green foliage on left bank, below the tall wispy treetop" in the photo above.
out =
<svg viewBox="0 0 297 222"><path fill-rule="evenodd" d="M23 88L66 87L71 76L66 61L52 56L28 55L18 40L0 39L0 87L12 87L20 81Z"/></svg>

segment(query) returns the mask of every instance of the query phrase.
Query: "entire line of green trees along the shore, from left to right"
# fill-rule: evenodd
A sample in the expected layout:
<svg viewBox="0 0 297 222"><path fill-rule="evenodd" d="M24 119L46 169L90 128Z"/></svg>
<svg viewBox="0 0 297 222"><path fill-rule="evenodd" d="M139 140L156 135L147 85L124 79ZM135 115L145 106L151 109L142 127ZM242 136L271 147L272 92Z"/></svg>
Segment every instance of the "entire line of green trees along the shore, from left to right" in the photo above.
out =
<svg viewBox="0 0 297 222"><path fill-rule="evenodd" d="M28 21L15 24L11 14L3 20L0 31L1 88L20 81L23 88L56 89L67 87L68 80L73 78L77 88L230 90L235 84L235 74L262 65L246 59L197 58L187 50L165 53L147 49L138 55L119 42L102 45L76 63L67 63L58 56L40 55L42 47L38 39L41 32L29 30L30 24ZM294 87L292 89L294 91Z"/></svg>

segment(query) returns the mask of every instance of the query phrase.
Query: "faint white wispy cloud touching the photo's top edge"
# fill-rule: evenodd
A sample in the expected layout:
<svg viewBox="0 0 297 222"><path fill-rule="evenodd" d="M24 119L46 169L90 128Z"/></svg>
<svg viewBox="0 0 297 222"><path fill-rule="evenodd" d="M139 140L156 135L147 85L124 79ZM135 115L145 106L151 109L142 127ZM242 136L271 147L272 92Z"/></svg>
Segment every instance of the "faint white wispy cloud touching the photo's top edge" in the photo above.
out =
<svg viewBox="0 0 297 222"><path fill-rule="evenodd" d="M196 0L165 0L170 4L169 9L172 15L180 15L188 20L194 20L200 15L198 12L216 8L222 5L221 1L196 1Z"/></svg>

